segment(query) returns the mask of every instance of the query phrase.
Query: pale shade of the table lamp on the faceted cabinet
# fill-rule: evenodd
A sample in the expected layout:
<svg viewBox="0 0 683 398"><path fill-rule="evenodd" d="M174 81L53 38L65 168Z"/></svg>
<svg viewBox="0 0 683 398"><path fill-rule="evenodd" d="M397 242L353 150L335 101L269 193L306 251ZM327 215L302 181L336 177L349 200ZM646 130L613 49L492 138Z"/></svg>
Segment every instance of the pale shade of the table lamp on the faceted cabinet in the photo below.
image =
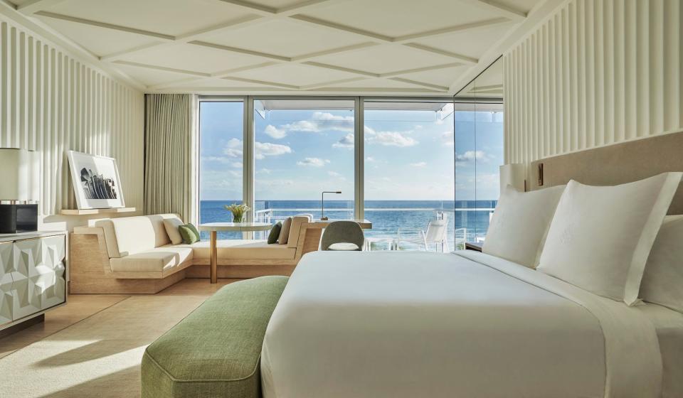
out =
<svg viewBox="0 0 683 398"><path fill-rule="evenodd" d="M26 149L0 148L0 200L38 200L40 178L36 152Z"/></svg>

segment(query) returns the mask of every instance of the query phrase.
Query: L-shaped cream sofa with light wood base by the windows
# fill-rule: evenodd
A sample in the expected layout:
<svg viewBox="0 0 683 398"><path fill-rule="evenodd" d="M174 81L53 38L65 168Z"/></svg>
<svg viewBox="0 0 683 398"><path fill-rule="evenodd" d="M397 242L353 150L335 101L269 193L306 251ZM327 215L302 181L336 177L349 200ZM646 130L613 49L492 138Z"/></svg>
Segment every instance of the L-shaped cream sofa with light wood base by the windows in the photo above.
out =
<svg viewBox="0 0 683 398"><path fill-rule="evenodd" d="M70 293L154 294L186 277L208 278L209 242L171 244L164 219L174 214L92 220L70 239ZM317 250L322 230L293 217L285 244L219 240L218 277L290 275L302 255ZM207 282L208 283L208 282Z"/></svg>

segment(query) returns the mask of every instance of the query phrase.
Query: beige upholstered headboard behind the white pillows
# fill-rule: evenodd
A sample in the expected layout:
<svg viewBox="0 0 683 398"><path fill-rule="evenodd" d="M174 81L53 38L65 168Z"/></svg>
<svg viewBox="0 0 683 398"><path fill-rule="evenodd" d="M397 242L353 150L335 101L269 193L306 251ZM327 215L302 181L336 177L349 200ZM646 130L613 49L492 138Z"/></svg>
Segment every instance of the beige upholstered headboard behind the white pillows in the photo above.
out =
<svg viewBox="0 0 683 398"><path fill-rule="evenodd" d="M534 161L527 186L536 190L566 184L569 180L588 185L617 185L665 171L683 171L683 132ZM683 214L683 184L669 214Z"/></svg>

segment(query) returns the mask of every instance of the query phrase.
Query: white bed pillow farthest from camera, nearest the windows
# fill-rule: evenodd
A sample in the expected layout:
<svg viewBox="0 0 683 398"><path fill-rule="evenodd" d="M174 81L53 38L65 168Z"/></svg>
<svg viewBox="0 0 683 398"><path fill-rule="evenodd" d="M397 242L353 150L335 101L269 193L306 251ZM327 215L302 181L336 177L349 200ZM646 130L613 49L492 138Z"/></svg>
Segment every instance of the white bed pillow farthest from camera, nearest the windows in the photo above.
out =
<svg viewBox="0 0 683 398"><path fill-rule="evenodd" d="M535 268L565 186L531 192L503 188L482 252Z"/></svg>

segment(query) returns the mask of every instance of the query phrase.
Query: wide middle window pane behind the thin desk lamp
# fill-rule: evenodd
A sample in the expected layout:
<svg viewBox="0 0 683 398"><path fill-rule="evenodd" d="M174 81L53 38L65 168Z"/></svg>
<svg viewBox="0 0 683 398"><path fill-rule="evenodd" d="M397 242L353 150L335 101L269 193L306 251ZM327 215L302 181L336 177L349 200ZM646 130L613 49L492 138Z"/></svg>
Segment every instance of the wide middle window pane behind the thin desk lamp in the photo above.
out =
<svg viewBox="0 0 683 398"><path fill-rule="evenodd" d="M354 217L354 99L255 99L255 220ZM341 193L336 193L340 191Z"/></svg>

